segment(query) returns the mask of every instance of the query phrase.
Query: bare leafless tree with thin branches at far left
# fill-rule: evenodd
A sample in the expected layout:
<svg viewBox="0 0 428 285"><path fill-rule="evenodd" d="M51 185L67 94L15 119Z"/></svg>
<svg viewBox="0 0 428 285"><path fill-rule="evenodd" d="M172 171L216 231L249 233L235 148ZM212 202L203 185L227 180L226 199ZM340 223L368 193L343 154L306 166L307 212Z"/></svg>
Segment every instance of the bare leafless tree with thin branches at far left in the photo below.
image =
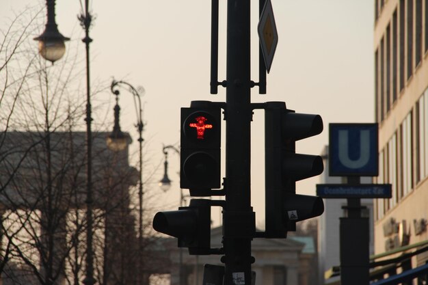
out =
<svg viewBox="0 0 428 285"><path fill-rule="evenodd" d="M0 273L7 277L4 284L80 284L83 279L85 133L79 130L85 104L78 94L83 94L84 77L77 53L69 52L55 66L37 54L31 38L40 32L42 18L42 9L29 8L1 31ZM135 264L124 258L135 245L128 192L136 182L135 169L129 167L127 151L107 150L105 138L106 133L100 132L92 137L94 254L100 284L112 277L126 281L125 273ZM123 270L111 268L111 258L117 257L113 254L122 258Z"/></svg>

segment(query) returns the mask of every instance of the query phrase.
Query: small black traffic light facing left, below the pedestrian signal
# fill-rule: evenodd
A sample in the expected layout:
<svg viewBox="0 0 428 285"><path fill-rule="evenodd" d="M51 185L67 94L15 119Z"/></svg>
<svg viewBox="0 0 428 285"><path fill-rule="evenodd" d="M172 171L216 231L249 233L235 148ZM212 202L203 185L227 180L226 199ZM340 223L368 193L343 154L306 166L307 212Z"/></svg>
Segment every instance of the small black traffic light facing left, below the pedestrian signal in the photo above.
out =
<svg viewBox="0 0 428 285"><path fill-rule="evenodd" d="M188 247L189 254L211 254L211 200L192 199L178 211L158 212L153 228L178 238L178 247Z"/></svg>

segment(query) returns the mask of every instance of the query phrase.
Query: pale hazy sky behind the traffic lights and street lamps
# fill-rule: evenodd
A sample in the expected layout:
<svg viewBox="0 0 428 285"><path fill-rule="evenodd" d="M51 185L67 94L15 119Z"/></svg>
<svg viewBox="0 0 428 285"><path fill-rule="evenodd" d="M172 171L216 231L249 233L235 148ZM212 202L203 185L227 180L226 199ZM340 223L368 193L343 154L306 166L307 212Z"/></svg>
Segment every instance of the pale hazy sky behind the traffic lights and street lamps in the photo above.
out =
<svg viewBox="0 0 428 285"><path fill-rule="evenodd" d="M45 1L37 1L44 5ZM7 19L14 18L14 13L22 11L25 5L35 2L1 0L0 27L5 27ZM59 31L72 38L71 42L80 42L83 31L77 21L77 14L81 12L79 0L56 2ZM330 122L374 120L374 4L371 0L271 2L278 47L267 75L267 94L260 95L258 88L253 88L252 102L285 101L289 109L299 113L321 115L323 133L297 142L297 152L320 154L328 143ZM257 82L258 0L251 0L251 4L251 74ZM110 82L114 77L134 87L144 87L146 154L148 163L157 165L163 159L162 144L178 146L180 107L188 107L191 100L224 101L226 97L222 87L219 94L209 94L211 1L95 0L90 1L90 7L95 16L90 30L94 40L90 45L92 80ZM226 1L220 1L219 10L219 81L222 81L226 79ZM43 28L40 27L40 33ZM34 49L37 49L36 42ZM83 53L83 43L80 49ZM112 95L105 92L98 96ZM132 150L136 151L136 116L132 96L126 90L121 92L120 106L122 130L131 133ZM263 111L256 111L252 122L252 206L258 225L264 219L263 128ZM169 175L174 184L157 199L169 201L168 206L160 205L159 210L178 206L178 155L171 152L169 162ZM223 165L224 162L223 154ZM154 182L161 179L162 174L160 168ZM297 193L315 194L317 182L318 177L298 182ZM150 189L161 192L156 183ZM216 224L218 217L219 213L213 211Z"/></svg>

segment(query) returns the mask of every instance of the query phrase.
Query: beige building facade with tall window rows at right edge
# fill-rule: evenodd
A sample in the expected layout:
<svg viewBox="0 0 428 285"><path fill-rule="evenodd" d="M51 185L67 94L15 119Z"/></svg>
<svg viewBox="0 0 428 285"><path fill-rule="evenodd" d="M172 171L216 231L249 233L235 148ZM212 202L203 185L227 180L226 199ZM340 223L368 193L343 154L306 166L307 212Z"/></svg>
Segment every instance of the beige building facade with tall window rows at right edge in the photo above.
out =
<svg viewBox="0 0 428 285"><path fill-rule="evenodd" d="M376 182L392 185L391 199L374 202L382 254L428 239L428 0L375 0L374 16Z"/></svg>

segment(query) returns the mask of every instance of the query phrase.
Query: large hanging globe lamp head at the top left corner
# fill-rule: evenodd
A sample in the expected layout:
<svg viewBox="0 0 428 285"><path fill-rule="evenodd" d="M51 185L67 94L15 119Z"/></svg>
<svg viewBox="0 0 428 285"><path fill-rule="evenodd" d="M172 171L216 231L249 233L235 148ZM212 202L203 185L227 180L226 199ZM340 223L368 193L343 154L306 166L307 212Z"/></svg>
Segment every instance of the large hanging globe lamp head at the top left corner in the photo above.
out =
<svg viewBox="0 0 428 285"><path fill-rule="evenodd" d="M47 18L48 21L43 33L34 38L39 42L39 53L49 62L55 62L66 53L66 45L64 42L70 40L62 36L58 31L57 23L55 22L55 0L46 0Z"/></svg>

